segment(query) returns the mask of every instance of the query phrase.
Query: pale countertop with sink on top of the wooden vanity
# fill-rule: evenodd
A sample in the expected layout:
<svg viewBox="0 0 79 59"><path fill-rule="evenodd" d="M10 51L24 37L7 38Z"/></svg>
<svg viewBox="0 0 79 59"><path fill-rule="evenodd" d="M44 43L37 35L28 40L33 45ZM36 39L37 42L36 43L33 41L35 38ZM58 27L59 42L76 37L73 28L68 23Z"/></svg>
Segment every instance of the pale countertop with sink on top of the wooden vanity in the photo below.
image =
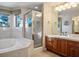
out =
<svg viewBox="0 0 79 59"><path fill-rule="evenodd" d="M47 35L49 38L61 38L65 40L72 40L72 41L79 41L79 36L72 36L72 35L67 35L67 36L62 36L62 35Z"/></svg>

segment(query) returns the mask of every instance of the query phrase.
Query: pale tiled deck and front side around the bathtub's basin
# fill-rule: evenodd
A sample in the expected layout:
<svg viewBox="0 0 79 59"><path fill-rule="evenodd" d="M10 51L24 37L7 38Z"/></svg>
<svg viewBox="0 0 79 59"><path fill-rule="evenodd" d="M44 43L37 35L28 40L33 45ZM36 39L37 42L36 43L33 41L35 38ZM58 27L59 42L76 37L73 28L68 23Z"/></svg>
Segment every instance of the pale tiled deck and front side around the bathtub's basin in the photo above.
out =
<svg viewBox="0 0 79 59"><path fill-rule="evenodd" d="M32 49L32 40L20 38L16 39L16 44L14 46L0 49L0 57L29 57L32 54Z"/></svg>

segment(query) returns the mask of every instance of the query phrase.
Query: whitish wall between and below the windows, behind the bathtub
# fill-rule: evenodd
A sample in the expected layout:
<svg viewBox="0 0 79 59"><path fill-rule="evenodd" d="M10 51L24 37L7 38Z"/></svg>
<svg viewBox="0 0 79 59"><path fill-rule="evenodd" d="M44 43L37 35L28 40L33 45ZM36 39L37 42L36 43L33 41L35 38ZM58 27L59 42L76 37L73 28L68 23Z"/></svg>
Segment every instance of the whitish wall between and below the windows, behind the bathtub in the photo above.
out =
<svg viewBox="0 0 79 59"><path fill-rule="evenodd" d="M10 27L7 27L7 28L5 27L5 29L0 27L0 39L2 39L2 38L21 38L22 31L20 31L14 27L14 15L13 14L11 14L9 16L9 24L10 24Z"/></svg>

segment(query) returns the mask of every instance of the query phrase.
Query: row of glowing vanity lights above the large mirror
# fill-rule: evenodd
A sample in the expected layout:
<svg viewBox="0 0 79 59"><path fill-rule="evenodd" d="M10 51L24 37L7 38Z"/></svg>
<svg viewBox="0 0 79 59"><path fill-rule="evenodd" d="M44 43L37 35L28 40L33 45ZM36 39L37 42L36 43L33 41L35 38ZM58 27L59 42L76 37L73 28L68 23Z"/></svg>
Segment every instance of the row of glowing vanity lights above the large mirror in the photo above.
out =
<svg viewBox="0 0 79 59"><path fill-rule="evenodd" d="M75 7L77 7L77 3L65 3L63 5L57 6L55 10L61 12L63 10L75 8Z"/></svg>

